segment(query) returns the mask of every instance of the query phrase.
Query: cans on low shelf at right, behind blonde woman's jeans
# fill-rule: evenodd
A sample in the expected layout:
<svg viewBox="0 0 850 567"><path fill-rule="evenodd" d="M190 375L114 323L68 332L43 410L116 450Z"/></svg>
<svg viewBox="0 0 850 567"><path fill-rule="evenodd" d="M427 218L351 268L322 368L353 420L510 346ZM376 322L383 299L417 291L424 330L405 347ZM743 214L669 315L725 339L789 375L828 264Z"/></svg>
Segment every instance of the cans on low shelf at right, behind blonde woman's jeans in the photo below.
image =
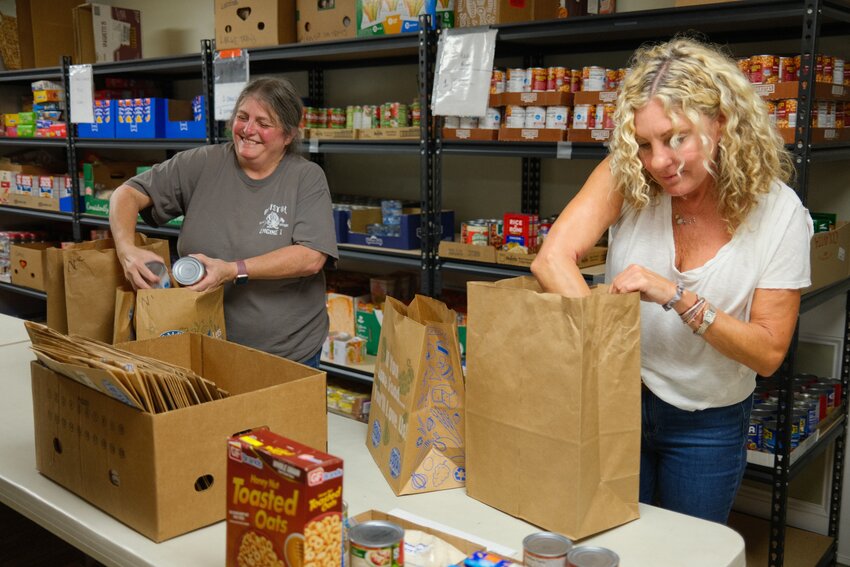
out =
<svg viewBox="0 0 850 567"><path fill-rule="evenodd" d="M791 449L815 432L818 424L840 407L842 388L836 378L798 374L792 381L794 406L791 410ZM775 453L781 448L777 437L778 391L760 382L753 393L753 411L747 435L747 448Z"/></svg>

